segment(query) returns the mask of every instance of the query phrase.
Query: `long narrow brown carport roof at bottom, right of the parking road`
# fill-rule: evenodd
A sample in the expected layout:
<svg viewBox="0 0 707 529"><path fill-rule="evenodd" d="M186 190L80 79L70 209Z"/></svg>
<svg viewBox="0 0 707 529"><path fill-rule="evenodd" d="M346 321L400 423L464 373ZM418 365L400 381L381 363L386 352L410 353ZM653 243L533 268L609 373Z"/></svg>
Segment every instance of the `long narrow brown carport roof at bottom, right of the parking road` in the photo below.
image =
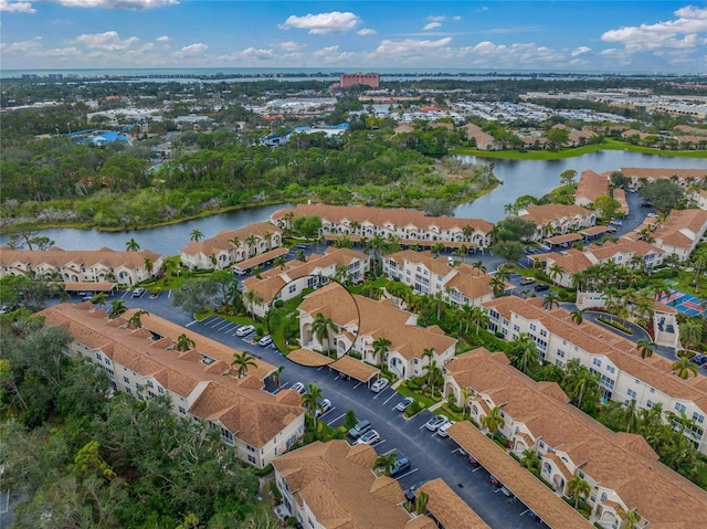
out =
<svg viewBox="0 0 707 529"><path fill-rule="evenodd" d="M447 431L456 444L496 476L523 504L553 529L588 529L589 520L526 470L506 451L486 437L467 421L453 424Z"/></svg>

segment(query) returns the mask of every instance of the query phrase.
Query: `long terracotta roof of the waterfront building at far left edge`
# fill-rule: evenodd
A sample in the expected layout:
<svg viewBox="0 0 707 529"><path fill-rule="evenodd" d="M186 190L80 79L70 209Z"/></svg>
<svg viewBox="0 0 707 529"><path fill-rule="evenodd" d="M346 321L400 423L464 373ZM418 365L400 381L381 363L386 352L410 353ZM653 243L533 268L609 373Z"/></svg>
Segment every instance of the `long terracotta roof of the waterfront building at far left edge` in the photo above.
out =
<svg viewBox="0 0 707 529"><path fill-rule="evenodd" d="M140 250L139 252L115 251L107 247L101 250L62 250L52 246L49 250L12 250L8 246L0 247L0 266L13 266L14 264L29 264L33 269L42 265L51 267L75 266L92 268L105 266L108 268L144 268L145 258L157 262L161 254ZM93 284L92 284L93 285Z"/></svg>

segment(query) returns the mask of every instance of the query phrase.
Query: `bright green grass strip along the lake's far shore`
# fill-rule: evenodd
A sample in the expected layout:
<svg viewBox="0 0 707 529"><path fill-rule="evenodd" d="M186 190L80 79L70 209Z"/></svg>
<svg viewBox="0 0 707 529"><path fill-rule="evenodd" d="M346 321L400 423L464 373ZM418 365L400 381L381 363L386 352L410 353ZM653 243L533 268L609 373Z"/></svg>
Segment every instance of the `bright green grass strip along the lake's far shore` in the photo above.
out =
<svg viewBox="0 0 707 529"><path fill-rule="evenodd" d="M626 141L619 141L616 139L606 139L604 140L603 144L585 145L583 147L562 149L560 151L549 151L549 150L528 150L526 152L520 152L518 150L488 151L488 150L474 149L471 147L457 147L456 149L453 149L450 154L477 156L479 158L503 158L508 160L561 160L564 158L573 158L576 156L597 152L599 150L627 150L631 152L643 152L645 155L679 156L685 158L707 158L707 150L661 150L661 149L652 149L650 147L640 147L637 145L627 144Z"/></svg>

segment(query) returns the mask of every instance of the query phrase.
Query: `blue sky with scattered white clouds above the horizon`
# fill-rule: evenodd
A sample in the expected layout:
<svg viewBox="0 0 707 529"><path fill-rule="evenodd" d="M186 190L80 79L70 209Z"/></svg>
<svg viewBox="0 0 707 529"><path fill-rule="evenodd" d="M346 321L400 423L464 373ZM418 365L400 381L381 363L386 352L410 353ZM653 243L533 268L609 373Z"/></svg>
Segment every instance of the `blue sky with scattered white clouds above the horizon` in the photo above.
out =
<svg viewBox="0 0 707 529"><path fill-rule="evenodd" d="M707 2L0 0L11 68L707 73Z"/></svg>

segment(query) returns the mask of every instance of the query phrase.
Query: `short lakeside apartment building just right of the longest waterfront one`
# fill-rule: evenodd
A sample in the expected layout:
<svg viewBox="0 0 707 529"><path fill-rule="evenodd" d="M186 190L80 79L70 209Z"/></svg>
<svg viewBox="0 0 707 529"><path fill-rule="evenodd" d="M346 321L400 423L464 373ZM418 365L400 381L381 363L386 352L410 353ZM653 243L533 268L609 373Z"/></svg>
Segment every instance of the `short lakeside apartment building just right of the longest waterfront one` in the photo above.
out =
<svg viewBox="0 0 707 529"><path fill-rule="evenodd" d="M520 210L518 216L537 226L532 241L590 228L597 223L597 212L574 204L530 204Z"/></svg>

